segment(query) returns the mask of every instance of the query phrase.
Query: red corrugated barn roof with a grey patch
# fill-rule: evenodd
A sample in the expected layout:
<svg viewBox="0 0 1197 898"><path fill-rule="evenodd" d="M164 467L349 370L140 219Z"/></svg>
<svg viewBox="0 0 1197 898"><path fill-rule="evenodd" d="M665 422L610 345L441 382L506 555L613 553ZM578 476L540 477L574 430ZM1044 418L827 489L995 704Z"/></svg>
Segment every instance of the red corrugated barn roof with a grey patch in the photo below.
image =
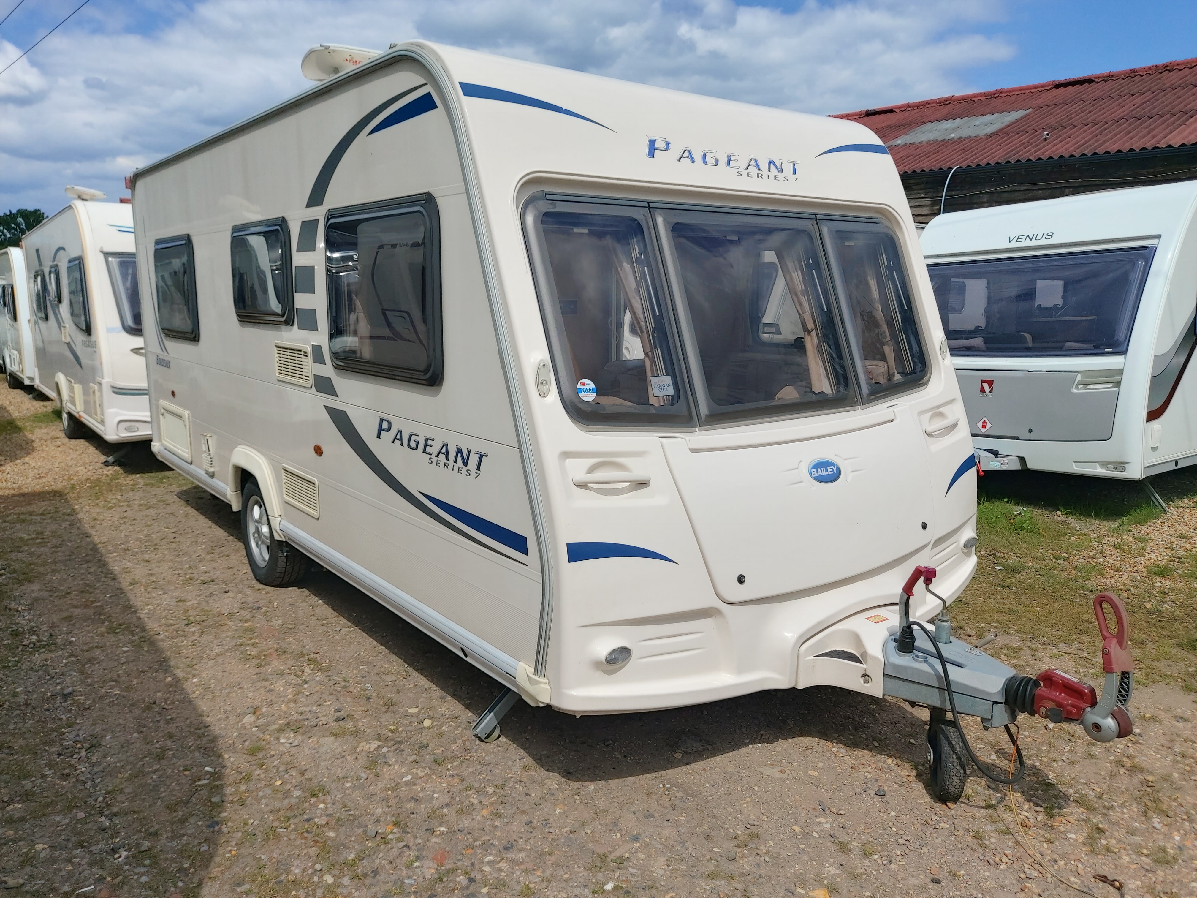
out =
<svg viewBox="0 0 1197 898"><path fill-rule="evenodd" d="M889 152L905 172L1195 144L1197 59L834 117L861 122L889 144L929 122L1020 109L1029 111L991 134L901 144Z"/></svg>

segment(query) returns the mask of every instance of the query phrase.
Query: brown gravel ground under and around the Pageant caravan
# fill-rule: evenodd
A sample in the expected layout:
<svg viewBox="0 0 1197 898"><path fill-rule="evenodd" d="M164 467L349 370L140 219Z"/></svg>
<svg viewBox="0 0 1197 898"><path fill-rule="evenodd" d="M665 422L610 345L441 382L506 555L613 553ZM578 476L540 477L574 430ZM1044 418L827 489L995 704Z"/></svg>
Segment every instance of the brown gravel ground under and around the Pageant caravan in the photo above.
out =
<svg viewBox="0 0 1197 898"><path fill-rule="evenodd" d="M1113 746L1031 721L1016 799L973 773L950 808L925 712L831 688L519 705L481 745L496 686L473 667L327 572L257 585L236 515L145 447L104 468L48 404L0 406L13 894L1197 894L1189 692L1138 690ZM1062 663L1035 651L1028 672Z"/></svg>

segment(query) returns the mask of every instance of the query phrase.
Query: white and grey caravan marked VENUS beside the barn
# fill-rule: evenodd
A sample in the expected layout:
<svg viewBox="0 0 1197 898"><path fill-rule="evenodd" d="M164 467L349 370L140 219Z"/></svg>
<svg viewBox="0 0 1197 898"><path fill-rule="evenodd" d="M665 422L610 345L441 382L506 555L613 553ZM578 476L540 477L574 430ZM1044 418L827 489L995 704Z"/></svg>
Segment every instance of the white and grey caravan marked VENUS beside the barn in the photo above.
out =
<svg viewBox="0 0 1197 898"><path fill-rule="evenodd" d="M984 468L1197 462L1197 181L953 212L923 251Z"/></svg>

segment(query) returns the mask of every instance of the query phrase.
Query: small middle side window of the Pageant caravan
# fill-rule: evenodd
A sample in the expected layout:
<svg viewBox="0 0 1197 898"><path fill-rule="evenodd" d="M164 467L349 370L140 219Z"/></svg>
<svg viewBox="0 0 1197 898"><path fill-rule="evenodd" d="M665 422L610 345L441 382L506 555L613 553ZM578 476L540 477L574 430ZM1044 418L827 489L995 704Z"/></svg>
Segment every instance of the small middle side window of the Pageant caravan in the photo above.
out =
<svg viewBox="0 0 1197 898"><path fill-rule="evenodd" d="M232 229L232 305L242 321L290 324L291 231L285 218Z"/></svg>

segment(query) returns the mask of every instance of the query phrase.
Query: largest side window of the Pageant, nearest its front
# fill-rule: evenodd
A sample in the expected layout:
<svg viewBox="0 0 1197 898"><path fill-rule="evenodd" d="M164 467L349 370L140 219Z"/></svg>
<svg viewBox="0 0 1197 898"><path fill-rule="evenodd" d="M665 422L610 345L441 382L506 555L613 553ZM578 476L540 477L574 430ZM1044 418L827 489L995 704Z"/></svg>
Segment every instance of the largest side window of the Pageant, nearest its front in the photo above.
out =
<svg viewBox="0 0 1197 898"><path fill-rule="evenodd" d="M438 235L430 195L328 214L329 350L336 368L440 381Z"/></svg>

